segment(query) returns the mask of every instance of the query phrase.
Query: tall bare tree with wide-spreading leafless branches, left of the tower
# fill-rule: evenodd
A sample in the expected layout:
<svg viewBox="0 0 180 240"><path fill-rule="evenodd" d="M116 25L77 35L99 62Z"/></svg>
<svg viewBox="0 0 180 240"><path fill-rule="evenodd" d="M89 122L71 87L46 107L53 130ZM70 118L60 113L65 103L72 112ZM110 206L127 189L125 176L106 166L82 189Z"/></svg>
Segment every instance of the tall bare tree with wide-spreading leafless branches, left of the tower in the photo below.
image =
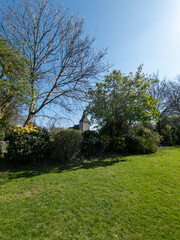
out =
<svg viewBox="0 0 180 240"><path fill-rule="evenodd" d="M29 60L31 96L25 124L50 104L70 111L108 68L103 64L106 49L93 49L95 39L83 32L83 24L83 18L68 15L50 0L6 1L1 8L0 33Z"/></svg>

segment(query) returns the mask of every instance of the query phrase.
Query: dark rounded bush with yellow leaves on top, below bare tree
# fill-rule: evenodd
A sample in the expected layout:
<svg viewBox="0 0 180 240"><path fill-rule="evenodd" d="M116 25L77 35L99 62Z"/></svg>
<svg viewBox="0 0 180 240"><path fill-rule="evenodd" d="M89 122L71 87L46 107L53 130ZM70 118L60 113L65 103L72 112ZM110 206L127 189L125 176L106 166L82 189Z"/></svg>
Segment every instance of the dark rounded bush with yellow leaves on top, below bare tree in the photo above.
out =
<svg viewBox="0 0 180 240"><path fill-rule="evenodd" d="M6 159L16 165L36 163L44 158L50 149L48 131L33 125L10 128L6 140L9 141Z"/></svg>

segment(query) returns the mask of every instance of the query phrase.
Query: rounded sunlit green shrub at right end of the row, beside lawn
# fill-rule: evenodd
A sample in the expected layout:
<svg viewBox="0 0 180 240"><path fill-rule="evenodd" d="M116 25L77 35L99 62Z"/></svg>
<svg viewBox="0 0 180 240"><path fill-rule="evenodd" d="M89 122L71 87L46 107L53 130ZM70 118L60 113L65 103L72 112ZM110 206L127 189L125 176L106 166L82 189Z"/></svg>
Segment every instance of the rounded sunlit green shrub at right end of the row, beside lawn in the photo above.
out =
<svg viewBox="0 0 180 240"><path fill-rule="evenodd" d="M135 125L126 137L127 151L135 154L154 153L158 150L159 141L159 134L141 124Z"/></svg>

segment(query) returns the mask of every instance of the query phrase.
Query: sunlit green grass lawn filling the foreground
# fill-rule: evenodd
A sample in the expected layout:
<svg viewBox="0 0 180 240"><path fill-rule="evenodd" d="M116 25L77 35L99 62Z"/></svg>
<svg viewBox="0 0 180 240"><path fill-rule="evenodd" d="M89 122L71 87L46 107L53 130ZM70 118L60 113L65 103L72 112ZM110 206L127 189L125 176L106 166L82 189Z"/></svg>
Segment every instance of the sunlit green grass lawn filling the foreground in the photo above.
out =
<svg viewBox="0 0 180 240"><path fill-rule="evenodd" d="M180 239L180 148L0 171L0 239Z"/></svg>

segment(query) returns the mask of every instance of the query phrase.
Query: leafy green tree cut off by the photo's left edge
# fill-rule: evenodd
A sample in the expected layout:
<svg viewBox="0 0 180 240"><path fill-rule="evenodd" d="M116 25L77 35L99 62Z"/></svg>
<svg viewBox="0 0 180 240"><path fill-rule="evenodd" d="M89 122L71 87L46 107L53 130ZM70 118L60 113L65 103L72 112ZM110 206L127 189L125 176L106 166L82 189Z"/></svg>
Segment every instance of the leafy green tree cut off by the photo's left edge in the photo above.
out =
<svg viewBox="0 0 180 240"><path fill-rule="evenodd" d="M0 129L7 125L13 112L27 102L27 61L19 50L0 38ZM2 137L1 137L2 138Z"/></svg>

